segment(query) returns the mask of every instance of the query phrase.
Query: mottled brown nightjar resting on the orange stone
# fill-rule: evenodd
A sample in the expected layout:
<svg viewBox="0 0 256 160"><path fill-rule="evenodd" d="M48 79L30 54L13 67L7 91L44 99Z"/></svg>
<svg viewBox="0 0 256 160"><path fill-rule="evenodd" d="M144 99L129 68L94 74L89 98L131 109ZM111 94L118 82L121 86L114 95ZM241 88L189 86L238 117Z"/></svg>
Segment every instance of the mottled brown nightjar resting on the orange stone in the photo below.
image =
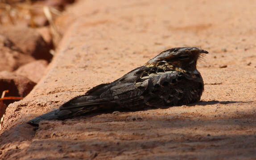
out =
<svg viewBox="0 0 256 160"><path fill-rule="evenodd" d="M196 65L208 52L196 47L171 48L119 79L99 84L57 110L29 120L65 120L100 109L139 111L198 102L204 83Z"/></svg>

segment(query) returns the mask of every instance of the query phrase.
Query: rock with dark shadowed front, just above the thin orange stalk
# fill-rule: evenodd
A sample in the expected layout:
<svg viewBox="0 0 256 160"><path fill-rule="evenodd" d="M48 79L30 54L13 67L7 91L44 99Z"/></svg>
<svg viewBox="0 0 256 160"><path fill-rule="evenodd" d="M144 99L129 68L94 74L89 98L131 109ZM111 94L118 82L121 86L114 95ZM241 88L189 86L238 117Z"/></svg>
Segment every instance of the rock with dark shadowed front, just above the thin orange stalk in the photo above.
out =
<svg viewBox="0 0 256 160"><path fill-rule="evenodd" d="M0 93L2 93L4 90L9 90L5 96L25 97L35 85L36 83L24 76L19 76L8 71L0 72ZM13 100L4 101L4 103L7 105L12 102Z"/></svg>

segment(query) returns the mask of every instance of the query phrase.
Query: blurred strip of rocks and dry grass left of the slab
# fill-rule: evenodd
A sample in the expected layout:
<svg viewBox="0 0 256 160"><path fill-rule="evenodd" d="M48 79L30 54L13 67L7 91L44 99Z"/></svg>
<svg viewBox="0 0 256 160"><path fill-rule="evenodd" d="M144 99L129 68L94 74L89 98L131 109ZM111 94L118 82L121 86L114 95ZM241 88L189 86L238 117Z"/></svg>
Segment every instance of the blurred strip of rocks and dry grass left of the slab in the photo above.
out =
<svg viewBox="0 0 256 160"><path fill-rule="evenodd" d="M75 0L0 0L0 118L45 74L62 37L54 20Z"/></svg>

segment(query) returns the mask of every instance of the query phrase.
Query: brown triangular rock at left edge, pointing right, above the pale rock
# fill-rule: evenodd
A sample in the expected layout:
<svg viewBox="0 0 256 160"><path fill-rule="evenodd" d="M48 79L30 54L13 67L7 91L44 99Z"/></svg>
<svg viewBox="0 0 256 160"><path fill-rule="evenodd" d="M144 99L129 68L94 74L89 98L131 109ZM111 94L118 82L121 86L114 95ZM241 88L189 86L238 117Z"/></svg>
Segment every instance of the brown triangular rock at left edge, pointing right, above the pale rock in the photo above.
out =
<svg viewBox="0 0 256 160"><path fill-rule="evenodd" d="M34 60L32 56L23 54L11 40L0 35L0 71L14 71L19 66Z"/></svg>

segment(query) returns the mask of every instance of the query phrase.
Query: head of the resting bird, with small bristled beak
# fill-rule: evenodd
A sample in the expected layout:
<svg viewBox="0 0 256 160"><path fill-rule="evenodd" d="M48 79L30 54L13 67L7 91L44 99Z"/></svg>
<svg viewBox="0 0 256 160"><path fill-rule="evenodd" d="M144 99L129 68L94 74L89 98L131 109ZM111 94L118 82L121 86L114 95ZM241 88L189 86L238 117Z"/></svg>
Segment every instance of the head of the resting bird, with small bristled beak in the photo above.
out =
<svg viewBox="0 0 256 160"><path fill-rule="evenodd" d="M196 69L197 60L203 53L208 52L196 47L171 48L161 52L145 65L153 66L159 61L165 61L173 65L173 67L194 71Z"/></svg>

